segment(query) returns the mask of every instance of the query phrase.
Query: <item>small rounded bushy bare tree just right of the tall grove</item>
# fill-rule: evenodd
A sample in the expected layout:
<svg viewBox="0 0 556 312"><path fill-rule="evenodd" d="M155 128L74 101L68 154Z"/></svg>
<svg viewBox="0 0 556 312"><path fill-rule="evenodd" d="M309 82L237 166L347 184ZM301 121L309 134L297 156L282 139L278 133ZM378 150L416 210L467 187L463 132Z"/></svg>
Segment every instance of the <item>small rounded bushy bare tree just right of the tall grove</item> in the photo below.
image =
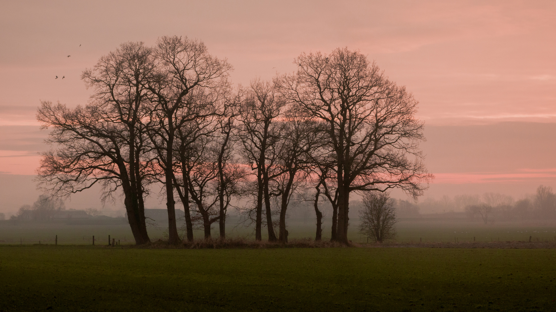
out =
<svg viewBox="0 0 556 312"><path fill-rule="evenodd" d="M396 209L389 193L365 192L359 218L359 233L373 238L378 243L396 235Z"/></svg>

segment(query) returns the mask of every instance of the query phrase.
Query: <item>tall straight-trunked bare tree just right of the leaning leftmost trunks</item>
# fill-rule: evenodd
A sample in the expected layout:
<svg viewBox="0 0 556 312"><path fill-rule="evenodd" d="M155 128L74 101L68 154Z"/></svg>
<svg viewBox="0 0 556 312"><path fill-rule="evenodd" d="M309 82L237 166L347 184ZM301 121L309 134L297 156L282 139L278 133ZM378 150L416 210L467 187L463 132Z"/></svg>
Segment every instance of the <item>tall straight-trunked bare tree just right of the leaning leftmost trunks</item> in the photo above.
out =
<svg viewBox="0 0 556 312"><path fill-rule="evenodd" d="M195 98L190 96L192 92L224 93L229 89L227 77L232 67L226 60L211 56L202 42L177 36L158 39L155 63L157 73L145 84L153 103L148 133L164 172L168 241L176 244L180 241L174 200L176 131L185 123L216 114L216 109L211 107L214 102L188 99Z"/></svg>

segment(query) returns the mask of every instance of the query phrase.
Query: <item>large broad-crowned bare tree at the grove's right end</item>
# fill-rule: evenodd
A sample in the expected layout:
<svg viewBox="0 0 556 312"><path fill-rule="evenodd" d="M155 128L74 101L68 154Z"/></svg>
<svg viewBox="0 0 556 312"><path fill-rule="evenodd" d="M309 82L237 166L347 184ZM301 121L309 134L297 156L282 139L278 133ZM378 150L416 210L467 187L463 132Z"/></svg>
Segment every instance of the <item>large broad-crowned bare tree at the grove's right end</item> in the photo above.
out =
<svg viewBox="0 0 556 312"><path fill-rule="evenodd" d="M309 117L327 124L337 185L337 240L348 244L349 195L401 188L414 197L432 178L421 162L423 123L413 95L388 80L366 56L347 48L301 54L280 92ZM415 160L410 160L411 156Z"/></svg>

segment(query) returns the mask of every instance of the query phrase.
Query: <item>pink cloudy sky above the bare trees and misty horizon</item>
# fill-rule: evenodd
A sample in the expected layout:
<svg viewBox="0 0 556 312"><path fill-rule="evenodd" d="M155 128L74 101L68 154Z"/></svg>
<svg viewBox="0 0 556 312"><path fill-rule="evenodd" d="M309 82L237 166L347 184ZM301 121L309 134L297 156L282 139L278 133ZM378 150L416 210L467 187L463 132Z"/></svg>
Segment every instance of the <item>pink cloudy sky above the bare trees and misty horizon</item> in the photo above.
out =
<svg viewBox="0 0 556 312"><path fill-rule="evenodd" d="M554 1L2 2L0 179L33 174L48 148L39 100L86 103L83 69L174 34L204 41L242 84L293 71L301 52L359 49L420 101L429 195L556 187Z"/></svg>

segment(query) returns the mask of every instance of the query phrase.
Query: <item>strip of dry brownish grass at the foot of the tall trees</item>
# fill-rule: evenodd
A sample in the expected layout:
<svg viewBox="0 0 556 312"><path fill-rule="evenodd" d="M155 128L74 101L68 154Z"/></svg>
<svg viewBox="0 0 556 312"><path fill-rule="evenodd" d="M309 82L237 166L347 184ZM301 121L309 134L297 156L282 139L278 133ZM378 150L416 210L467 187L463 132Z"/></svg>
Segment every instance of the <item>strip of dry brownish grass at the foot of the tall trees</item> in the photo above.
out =
<svg viewBox="0 0 556 312"><path fill-rule="evenodd" d="M168 244L167 241L158 240L150 244L135 245L137 248L153 249L261 249L261 248L330 248L342 247L340 243L331 241L315 241L312 239L293 239L285 244L271 243L269 241L257 241L247 238L226 238L226 239L196 239L193 241L183 241L178 245Z"/></svg>

